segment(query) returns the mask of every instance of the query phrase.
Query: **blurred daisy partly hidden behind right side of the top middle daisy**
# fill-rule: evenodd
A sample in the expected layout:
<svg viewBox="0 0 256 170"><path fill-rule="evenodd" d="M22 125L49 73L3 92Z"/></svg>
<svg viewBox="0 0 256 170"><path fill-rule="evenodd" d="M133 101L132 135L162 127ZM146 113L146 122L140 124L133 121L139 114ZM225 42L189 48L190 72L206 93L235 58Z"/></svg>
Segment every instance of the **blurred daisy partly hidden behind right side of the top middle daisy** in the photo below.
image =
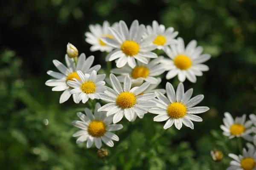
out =
<svg viewBox="0 0 256 170"><path fill-rule="evenodd" d="M174 31L174 28L169 27L165 28L163 24L158 24L157 21L153 21L152 27L147 26L146 37L148 35L154 34L156 39L153 41L157 45L157 49L161 50L164 46L177 44L177 40L174 38L179 34L177 31Z"/></svg>

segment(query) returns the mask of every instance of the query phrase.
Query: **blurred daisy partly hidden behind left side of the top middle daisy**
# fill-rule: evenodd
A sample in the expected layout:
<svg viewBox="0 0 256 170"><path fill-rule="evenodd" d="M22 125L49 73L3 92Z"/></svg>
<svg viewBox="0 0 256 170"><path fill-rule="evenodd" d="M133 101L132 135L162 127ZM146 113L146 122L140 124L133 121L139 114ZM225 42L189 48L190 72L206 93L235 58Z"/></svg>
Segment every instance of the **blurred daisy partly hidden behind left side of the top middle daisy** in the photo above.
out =
<svg viewBox="0 0 256 170"><path fill-rule="evenodd" d="M113 27L117 28L117 23L113 24ZM108 21L104 21L102 26L99 24L89 26L91 32L85 33L85 36L87 37L85 41L92 45L90 51L99 50L101 52L107 51L109 53L113 50L111 46L108 46L101 40L102 37L114 38L108 28L110 28Z"/></svg>

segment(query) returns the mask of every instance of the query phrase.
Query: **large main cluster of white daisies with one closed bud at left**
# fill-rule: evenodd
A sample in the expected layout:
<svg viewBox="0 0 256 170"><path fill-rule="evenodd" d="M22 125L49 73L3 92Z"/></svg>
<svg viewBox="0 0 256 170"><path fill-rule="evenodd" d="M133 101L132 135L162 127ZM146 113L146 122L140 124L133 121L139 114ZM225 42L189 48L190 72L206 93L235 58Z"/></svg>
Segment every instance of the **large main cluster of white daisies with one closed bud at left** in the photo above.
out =
<svg viewBox="0 0 256 170"><path fill-rule="evenodd" d="M183 83L186 79L195 83L197 76L208 71L203 62L210 59L209 54L202 54L203 48L192 40L185 47L182 38L177 37L174 28L165 28L153 21L152 26L139 24L134 20L128 28L124 21L112 26L105 21L103 25L90 25L85 41L92 46L90 51L105 51L106 62L115 61L116 68L111 69L107 78L98 74L101 65L93 65L94 57L86 57L78 53L77 48L68 43L65 56L66 65L53 60L59 72L47 71L55 79L45 84L52 86L52 91L64 91L60 103L67 101L72 95L75 103L96 103L94 108L85 108L84 113L77 113L81 120L72 124L80 130L73 134L79 136L76 143L87 141L87 147L93 143L97 148L102 142L113 147L113 141L119 137L112 131L121 130L116 124L124 117L134 122L137 117L143 119L146 113L157 114L155 122L166 121L163 128L174 125L177 129L185 125L194 129L194 122L201 122L198 113L209 110L208 107L196 106L204 95L192 97L193 89L185 91ZM158 56L163 50L169 58ZM177 89L167 82L165 89L159 88L160 76L165 72L166 79L178 77ZM107 84L106 84L107 82ZM94 113L92 112L94 111Z"/></svg>

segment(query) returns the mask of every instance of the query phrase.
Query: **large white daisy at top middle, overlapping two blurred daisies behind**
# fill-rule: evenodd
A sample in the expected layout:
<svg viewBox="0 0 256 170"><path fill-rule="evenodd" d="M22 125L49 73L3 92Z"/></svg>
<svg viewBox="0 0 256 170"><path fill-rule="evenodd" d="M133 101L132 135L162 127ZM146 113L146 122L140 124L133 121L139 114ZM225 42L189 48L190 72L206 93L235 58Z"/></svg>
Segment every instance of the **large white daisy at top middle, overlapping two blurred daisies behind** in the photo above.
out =
<svg viewBox="0 0 256 170"><path fill-rule="evenodd" d="M135 59L148 64L146 58L157 58L157 54L151 52L157 45L152 44L155 39L154 35L142 39L145 32L145 26L140 25L138 20L134 20L131 24L130 30L124 21L119 21L119 30L111 27L109 28L113 38L102 37L101 40L113 47L115 50L107 55L107 61L117 60L116 67L121 68L126 63L131 68L136 66Z"/></svg>

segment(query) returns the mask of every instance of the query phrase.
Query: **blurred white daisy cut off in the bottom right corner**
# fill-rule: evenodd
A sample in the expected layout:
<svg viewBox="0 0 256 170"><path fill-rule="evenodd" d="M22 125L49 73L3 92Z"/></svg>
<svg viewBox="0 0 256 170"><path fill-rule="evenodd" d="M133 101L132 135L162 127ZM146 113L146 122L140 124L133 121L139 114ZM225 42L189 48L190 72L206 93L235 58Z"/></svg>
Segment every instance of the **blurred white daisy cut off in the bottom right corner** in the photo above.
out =
<svg viewBox="0 0 256 170"><path fill-rule="evenodd" d="M248 150L243 148L243 155L228 154L234 160L230 161L231 167L228 167L227 170L256 170L255 148L250 144L247 144L247 147Z"/></svg>

